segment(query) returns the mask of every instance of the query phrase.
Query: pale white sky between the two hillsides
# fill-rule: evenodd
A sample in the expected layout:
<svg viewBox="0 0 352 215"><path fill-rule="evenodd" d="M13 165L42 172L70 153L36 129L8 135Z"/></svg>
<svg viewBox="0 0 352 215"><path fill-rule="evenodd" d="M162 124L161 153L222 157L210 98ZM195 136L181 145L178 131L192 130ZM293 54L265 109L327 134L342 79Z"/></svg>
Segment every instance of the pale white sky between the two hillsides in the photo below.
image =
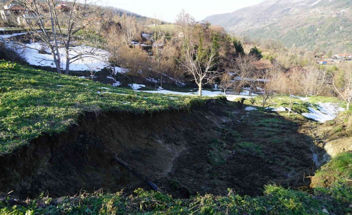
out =
<svg viewBox="0 0 352 215"><path fill-rule="evenodd" d="M208 15L232 12L262 1L264 0L102 0L100 3L175 22L176 15L182 8L199 21Z"/></svg>

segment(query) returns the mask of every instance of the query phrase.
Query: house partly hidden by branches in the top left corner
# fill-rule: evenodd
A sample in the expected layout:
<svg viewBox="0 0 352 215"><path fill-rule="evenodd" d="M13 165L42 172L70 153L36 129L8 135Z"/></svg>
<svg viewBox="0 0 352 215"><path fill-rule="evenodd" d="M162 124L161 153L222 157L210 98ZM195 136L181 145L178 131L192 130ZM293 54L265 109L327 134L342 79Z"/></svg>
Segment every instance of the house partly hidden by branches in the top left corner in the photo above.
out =
<svg viewBox="0 0 352 215"><path fill-rule="evenodd" d="M1 19L12 22L13 24L23 25L26 21L34 18L31 11L25 9L21 4L15 0L10 0L3 5L3 9L0 10Z"/></svg>

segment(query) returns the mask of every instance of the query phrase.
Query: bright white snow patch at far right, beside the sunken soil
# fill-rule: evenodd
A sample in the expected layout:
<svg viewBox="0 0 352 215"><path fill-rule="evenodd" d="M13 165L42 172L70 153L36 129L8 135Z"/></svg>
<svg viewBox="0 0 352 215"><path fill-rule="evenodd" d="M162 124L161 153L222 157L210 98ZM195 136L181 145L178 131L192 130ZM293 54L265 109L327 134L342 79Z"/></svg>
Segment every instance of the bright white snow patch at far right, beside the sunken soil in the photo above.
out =
<svg viewBox="0 0 352 215"><path fill-rule="evenodd" d="M325 123L326 121L335 119L339 112L345 111L345 109L339 107L338 104L330 102L318 103L318 109L319 110L309 107L308 110L310 113L302 113L302 115L320 123Z"/></svg>

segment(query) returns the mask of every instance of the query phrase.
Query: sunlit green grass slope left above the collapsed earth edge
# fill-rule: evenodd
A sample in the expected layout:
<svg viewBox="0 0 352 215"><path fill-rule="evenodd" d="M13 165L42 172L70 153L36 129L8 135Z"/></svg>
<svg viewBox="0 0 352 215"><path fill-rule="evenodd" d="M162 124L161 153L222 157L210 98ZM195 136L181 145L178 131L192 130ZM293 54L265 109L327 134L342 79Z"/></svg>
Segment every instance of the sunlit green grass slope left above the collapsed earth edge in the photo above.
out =
<svg viewBox="0 0 352 215"><path fill-rule="evenodd" d="M136 96L130 89L0 61L0 153L43 133L62 132L85 111L141 114L189 109L206 99L142 92Z"/></svg>

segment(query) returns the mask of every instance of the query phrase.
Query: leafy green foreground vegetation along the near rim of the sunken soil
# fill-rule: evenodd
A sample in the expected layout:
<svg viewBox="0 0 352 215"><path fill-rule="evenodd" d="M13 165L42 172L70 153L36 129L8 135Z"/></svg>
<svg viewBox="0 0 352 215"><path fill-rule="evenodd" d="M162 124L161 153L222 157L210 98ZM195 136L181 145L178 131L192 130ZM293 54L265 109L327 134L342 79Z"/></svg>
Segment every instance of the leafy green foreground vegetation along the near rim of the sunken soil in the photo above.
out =
<svg viewBox="0 0 352 215"><path fill-rule="evenodd" d="M340 167L346 163L347 157L351 160L352 153L335 158L330 166ZM338 171L340 170L346 171L346 168L338 168ZM94 194L57 199L41 196L34 200L27 199L25 202L6 195L2 199L0 196L0 214L348 215L352 213L351 194L352 187L339 182L331 188L316 188L311 194L268 185L265 187L264 196L260 197L239 196L229 190L227 196L198 195L178 200L167 194L141 189L131 196L123 192L106 194L98 191Z"/></svg>

